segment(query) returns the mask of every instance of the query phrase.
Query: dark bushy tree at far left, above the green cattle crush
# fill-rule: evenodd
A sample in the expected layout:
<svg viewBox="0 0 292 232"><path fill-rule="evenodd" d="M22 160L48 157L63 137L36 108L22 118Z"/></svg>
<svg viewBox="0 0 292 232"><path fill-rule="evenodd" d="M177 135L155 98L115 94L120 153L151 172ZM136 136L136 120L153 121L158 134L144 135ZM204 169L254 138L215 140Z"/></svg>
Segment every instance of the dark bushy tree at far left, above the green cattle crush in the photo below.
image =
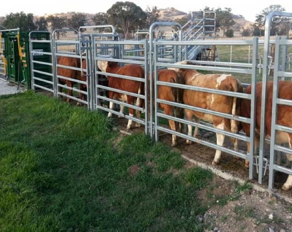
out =
<svg viewBox="0 0 292 232"><path fill-rule="evenodd" d="M25 14L23 11L20 13L10 13L6 15L3 26L8 29L19 27L22 31L33 31L37 29L33 19L33 14Z"/></svg>

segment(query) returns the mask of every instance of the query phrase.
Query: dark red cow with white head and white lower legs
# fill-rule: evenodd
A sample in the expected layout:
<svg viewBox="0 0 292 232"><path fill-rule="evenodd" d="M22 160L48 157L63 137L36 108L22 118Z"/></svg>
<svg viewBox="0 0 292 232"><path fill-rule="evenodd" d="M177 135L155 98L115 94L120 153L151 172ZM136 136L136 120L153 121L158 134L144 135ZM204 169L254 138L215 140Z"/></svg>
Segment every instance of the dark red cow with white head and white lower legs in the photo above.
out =
<svg viewBox="0 0 292 232"><path fill-rule="evenodd" d="M110 61L102 61L98 60L98 68L103 72L113 73L113 74L119 74L119 75L125 75L125 76L132 76L132 77L138 77L138 78L144 78L145 72L144 69L137 64L126 64L124 66L119 66L117 62L110 62ZM113 76L107 76L108 79L108 86L110 88L115 88L118 90L127 91L130 93L136 93L136 94L144 94L144 83L140 81L132 81L128 79L122 79L117 78ZM120 100L122 102L127 102L128 104L133 105L134 101L136 100L136 105L138 107L142 107L144 105L144 100L133 97L131 95L121 94L114 91L109 91L109 98L114 100ZM109 109L113 109L114 103L109 102ZM120 105L120 113L124 112L124 106ZM140 118L141 111L136 110L137 118ZM112 113L109 112L108 117L112 116ZM134 116L134 109L129 108L129 116ZM136 123L136 127L140 127L140 123ZM132 128L132 120L129 119L127 130L130 130Z"/></svg>

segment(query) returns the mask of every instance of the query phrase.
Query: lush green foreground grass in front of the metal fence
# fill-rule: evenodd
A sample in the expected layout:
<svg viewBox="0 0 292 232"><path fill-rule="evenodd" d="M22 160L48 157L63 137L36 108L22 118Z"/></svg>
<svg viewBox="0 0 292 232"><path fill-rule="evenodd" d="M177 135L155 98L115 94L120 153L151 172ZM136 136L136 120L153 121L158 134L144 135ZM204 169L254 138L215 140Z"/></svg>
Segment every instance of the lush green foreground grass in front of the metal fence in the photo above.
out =
<svg viewBox="0 0 292 232"><path fill-rule="evenodd" d="M0 98L0 231L203 231L211 172L143 134L116 144L113 123L32 92Z"/></svg>

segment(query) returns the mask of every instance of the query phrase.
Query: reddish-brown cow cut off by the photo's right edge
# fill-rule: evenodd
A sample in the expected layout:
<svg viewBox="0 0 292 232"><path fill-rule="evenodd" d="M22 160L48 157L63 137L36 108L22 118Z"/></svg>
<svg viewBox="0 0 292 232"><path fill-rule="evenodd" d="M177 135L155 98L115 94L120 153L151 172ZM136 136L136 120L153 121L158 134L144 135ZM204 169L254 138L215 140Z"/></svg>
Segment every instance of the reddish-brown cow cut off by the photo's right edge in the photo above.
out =
<svg viewBox="0 0 292 232"><path fill-rule="evenodd" d="M279 98L292 100L292 82L291 81L279 81ZM251 85L246 88L246 93L251 93ZM265 112L265 137L271 136L271 123L272 123L272 98L273 98L273 81L267 83L267 100L266 100L266 112ZM256 85L256 125L255 125L255 151L260 140L260 114L262 104L262 82L258 82ZM251 116L251 100L243 99L241 102L240 114L243 117L250 118ZM284 125L292 128L292 107L285 105L278 105L277 109L277 124ZM247 136L250 136L250 125L247 123L241 123L244 132ZM285 144L289 143L292 148L292 134L283 131L276 131L276 143ZM247 153L250 151L250 144L247 143ZM287 154L288 160L292 161L292 155ZM249 166L249 161L245 161L246 167ZM285 184L282 186L283 190L289 190L292 187L292 175L289 175Z"/></svg>

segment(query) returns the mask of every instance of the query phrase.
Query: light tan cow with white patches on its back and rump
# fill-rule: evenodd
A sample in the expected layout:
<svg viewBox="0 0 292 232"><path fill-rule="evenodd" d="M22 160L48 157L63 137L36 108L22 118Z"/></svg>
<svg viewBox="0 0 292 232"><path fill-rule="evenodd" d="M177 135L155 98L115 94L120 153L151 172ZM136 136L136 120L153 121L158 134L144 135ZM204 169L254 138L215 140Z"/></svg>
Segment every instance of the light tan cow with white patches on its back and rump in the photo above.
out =
<svg viewBox="0 0 292 232"><path fill-rule="evenodd" d="M188 61L178 62L177 64L189 64ZM228 74L201 74L193 69L176 69L168 68L177 71L184 77L186 85L198 86L204 88L211 88L217 90L243 92L241 82L232 75ZM218 95L200 91L184 90L183 94L184 104L204 109L210 109L221 113L239 115L240 113L240 99L237 97L229 97L225 95ZM200 120L213 123L214 127L220 130L231 131L237 133L239 131L240 123L233 119L218 117L211 114L200 113L185 109L185 116L188 120L195 118L196 123ZM199 128L195 127L194 137L197 137ZM188 135L192 136L192 126L188 125ZM225 135L216 133L217 145L223 146ZM231 138L234 143L234 150L238 150L238 139ZM191 144L187 140L187 144ZM221 156L221 151L216 150L212 165L217 165Z"/></svg>

